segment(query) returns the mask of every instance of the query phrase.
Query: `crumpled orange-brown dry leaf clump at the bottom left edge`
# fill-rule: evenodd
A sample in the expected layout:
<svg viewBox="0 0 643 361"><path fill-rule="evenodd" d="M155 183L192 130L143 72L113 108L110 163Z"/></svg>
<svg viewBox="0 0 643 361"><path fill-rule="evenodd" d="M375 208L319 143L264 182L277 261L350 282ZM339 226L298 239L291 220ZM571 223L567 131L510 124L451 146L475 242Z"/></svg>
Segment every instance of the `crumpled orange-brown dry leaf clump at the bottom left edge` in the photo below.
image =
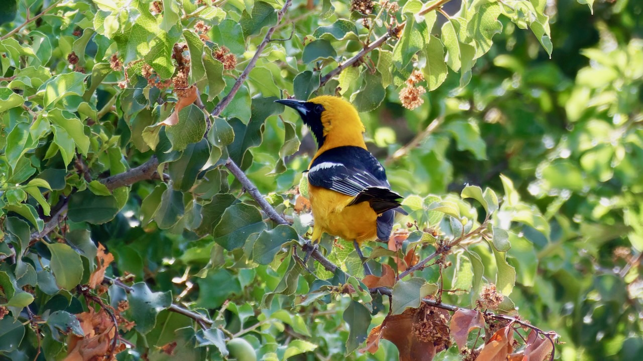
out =
<svg viewBox="0 0 643 361"><path fill-rule="evenodd" d="M116 328L105 310L95 312L90 308L89 312L78 313L76 317L85 336L69 334L67 340L69 351L64 361L96 360L109 353L116 354L122 351L123 348L118 347L114 350L110 349L116 337Z"/></svg>

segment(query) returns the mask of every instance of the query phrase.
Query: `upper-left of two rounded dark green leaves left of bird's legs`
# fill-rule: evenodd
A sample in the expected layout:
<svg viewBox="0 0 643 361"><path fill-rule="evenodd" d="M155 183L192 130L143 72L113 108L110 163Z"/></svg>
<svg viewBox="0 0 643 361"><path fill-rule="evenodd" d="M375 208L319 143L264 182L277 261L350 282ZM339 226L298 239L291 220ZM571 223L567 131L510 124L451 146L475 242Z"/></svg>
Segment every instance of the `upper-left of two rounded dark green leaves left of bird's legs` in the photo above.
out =
<svg viewBox="0 0 643 361"><path fill-rule="evenodd" d="M214 242L232 251L243 247L248 236L259 233L266 227L264 218L257 207L235 204L228 207L221 216L221 222L214 229Z"/></svg>

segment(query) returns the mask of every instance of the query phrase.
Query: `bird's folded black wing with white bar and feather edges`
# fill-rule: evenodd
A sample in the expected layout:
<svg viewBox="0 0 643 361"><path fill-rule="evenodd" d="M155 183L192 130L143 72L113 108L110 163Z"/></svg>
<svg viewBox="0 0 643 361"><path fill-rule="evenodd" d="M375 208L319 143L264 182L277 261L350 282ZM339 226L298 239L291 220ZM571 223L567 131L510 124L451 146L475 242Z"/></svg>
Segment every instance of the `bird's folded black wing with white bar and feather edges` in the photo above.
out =
<svg viewBox="0 0 643 361"><path fill-rule="evenodd" d="M400 206L400 197L390 190L386 172L368 150L339 146L318 156L308 171L312 186L355 197L349 204L369 202L379 215Z"/></svg>

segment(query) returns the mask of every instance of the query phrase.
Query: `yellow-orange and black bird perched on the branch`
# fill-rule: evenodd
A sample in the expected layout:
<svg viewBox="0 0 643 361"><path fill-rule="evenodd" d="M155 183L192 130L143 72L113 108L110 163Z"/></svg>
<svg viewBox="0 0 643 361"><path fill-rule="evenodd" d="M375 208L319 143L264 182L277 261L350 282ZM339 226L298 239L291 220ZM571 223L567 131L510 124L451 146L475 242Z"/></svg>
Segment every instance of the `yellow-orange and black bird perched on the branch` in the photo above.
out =
<svg viewBox="0 0 643 361"><path fill-rule="evenodd" d="M276 102L297 110L319 146L308 166L312 241L319 242L322 233L352 240L363 261L359 245L388 242L395 211L406 212L384 167L366 148L358 111L336 96ZM370 273L367 265L365 272Z"/></svg>

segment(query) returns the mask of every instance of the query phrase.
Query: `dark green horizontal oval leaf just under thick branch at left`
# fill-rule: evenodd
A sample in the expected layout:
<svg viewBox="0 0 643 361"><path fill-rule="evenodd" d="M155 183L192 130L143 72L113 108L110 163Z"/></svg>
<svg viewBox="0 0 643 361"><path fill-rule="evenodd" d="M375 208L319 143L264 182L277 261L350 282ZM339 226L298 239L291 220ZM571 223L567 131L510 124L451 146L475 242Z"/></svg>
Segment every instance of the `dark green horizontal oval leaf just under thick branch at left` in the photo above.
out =
<svg viewBox="0 0 643 361"><path fill-rule="evenodd" d="M113 195L95 195L86 190L71 195L67 215L74 222L104 224L113 220L119 210Z"/></svg>

